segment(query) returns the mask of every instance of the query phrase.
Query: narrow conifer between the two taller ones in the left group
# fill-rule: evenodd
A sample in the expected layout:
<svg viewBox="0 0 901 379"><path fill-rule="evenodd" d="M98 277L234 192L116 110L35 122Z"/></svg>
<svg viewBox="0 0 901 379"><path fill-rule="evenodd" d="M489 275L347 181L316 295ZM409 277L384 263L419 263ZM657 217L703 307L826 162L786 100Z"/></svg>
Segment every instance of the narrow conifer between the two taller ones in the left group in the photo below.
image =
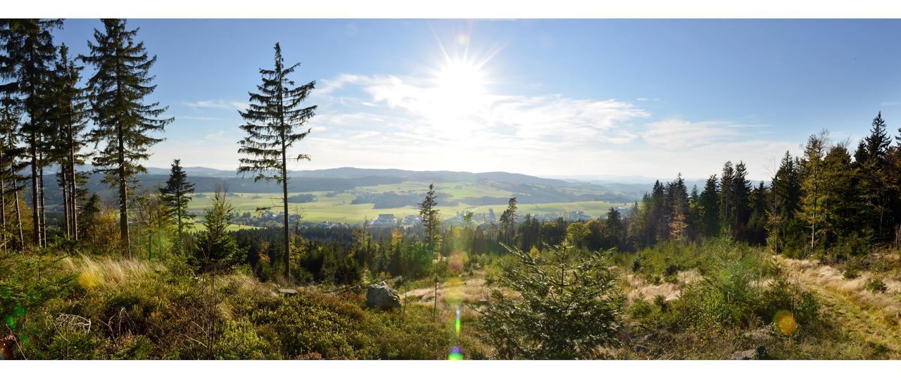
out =
<svg viewBox="0 0 901 379"><path fill-rule="evenodd" d="M85 164L87 154L81 152L86 145L82 133L86 129L88 104L84 88L78 87L81 67L68 58L66 45L59 47L53 85L55 91L55 112L52 126L56 130L51 135L53 161L59 165L59 187L63 195L63 219L66 235L78 239L77 203L79 185L86 183L84 173L76 167Z"/></svg>

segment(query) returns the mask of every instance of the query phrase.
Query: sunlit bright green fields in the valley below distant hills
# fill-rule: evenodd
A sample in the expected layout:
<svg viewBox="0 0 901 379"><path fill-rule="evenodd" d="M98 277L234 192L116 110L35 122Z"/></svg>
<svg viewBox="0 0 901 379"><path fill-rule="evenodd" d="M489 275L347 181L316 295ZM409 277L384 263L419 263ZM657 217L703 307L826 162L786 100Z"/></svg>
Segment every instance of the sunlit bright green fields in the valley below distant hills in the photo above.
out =
<svg viewBox="0 0 901 379"><path fill-rule="evenodd" d="M314 194L316 201L311 203L288 203L291 213L300 213L304 216L305 221L333 221L333 222L349 222L359 223L363 220L372 220L378 217L379 213L393 213L396 217L401 218L408 214L417 214L418 209L414 206L405 206L400 208L374 209L372 203L352 204L351 202L358 194L367 193L384 193L396 192L424 194L428 189L428 183L425 182L405 182L396 185L373 185L366 187L358 187L351 191L332 194L326 192L308 192L308 193L291 193L289 196L296 194ZM509 197L513 194L508 191L498 189L489 185L479 183L442 183L436 187L436 190L443 194L449 194L450 200L457 201L465 197ZM205 207L209 206L210 196L212 194L203 194L207 197L195 197L188 205L188 209L196 214L202 214ZM229 194L229 200L239 213L250 212L251 214L259 213L259 208L272 207L273 212L278 212L281 206L280 196L278 194ZM578 202L578 203L538 203L538 204L519 204L519 212L521 213L563 213L571 211L587 212L593 217L605 214L611 206L628 205L623 203L607 203L607 202ZM505 203L496 205L480 205L472 206L466 203L459 203L453 206L439 206L442 217L450 218L457 212L475 212L487 213L488 209L494 210L497 216L504 212Z"/></svg>

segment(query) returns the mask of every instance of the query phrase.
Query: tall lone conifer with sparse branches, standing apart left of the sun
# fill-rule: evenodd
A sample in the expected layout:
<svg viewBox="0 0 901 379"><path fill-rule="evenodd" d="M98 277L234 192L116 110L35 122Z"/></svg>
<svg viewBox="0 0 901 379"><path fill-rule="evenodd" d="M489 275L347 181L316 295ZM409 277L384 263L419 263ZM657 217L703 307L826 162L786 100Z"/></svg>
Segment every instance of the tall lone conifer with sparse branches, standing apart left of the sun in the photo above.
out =
<svg viewBox="0 0 901 379"><path fill-rule="evenodd" d="M288 149L297 141L303 140L310 129L305 123L314 115L316 105L304 107L301 104L314 89L315 81L304 86L295 86L288 75L294 73L300 63L285 66L281 55L281 47L275 46L275 68L259 69L262 84L257 86L259 93L250 93L250 105L241 113L246 122L241 130L247 132L241 143L239 153L250 158L241 158L238 172L241 174L256 173L254 181L260 179L275 181L282 186L282 204L284 206L285 279L291 280L290 251L291 237L288 230L287 210L287 161L309 160L306 154L289 156Z"/></svg>

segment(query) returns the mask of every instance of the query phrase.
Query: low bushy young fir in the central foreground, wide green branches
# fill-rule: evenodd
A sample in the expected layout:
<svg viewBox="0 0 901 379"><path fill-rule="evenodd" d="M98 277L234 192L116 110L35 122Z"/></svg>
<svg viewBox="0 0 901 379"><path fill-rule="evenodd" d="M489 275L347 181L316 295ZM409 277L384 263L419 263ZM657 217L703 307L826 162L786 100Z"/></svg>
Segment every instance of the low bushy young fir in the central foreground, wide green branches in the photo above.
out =
<svg viewBox="0 0 901 379"><path fill-rule="evenodd" d="M604 253L567 245L547 255L504 247L486 307L471 307L485 338L505 359L594 359L619 344L625 297ZM508 291L509 290L509 291ZM508 292L515 293L514 295Z"/></svg>

